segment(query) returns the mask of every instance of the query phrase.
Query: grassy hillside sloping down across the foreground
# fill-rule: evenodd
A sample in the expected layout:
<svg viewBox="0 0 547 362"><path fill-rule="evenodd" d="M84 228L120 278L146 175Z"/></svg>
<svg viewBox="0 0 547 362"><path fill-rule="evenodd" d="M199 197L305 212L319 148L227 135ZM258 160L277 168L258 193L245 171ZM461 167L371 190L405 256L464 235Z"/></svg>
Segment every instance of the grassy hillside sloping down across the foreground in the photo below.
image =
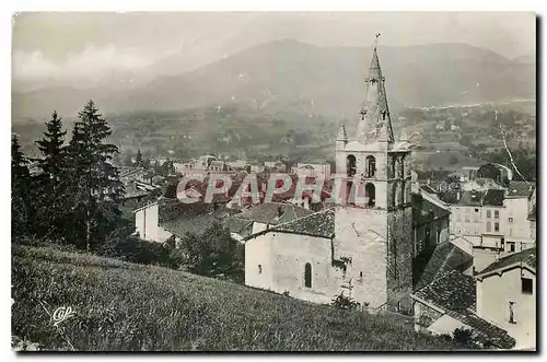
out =
<svg viewBox="0 0 547 362"><path fill-rule="evenodd" d="M315 305L182 271L13 246L12 335L45 350L447 350L389 315ZM59 328L44 308L70 306Z"/></svg>

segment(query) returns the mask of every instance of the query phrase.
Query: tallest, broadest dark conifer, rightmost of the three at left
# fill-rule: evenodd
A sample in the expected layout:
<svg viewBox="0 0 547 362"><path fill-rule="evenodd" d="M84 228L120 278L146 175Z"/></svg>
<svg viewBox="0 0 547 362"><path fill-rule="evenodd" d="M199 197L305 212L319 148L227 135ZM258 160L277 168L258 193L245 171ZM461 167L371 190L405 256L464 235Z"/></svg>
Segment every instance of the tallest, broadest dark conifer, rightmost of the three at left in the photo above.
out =
<svg viewBox="0 0 547 362"><path fill-rule="evenodd" d="M112 130L93 101L79 113L79 118L69 145L69 178L74 200L75 236L83 236L85 248L90 250L116 227L125 190L118 170L110 163L118 149L105 143Z"/></svg>

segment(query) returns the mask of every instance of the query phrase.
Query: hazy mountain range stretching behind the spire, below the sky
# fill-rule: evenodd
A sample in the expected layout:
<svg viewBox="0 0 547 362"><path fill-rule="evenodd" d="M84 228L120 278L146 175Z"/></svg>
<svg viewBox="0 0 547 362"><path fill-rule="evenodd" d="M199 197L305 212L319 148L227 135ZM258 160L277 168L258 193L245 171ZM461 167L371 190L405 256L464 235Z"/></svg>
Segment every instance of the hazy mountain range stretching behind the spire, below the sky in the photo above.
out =
<svg viewBox="0 0 547 362"><path fill-rule="evenodd" d="M380 47L392 112L429 106L535 98L535 65L465 44ZM89 98L102 112L175 110L242 104L265 112L357 116L372 49L276 40L179 75L131 89L42 89L12 93L12 116L74 115ZM176 57L168 61L174 63ZM182 58L179 58L182 59ZM162 62L153 65L159 72ZM150 70L148 73L152 72ZM136 74L137 77L137 74Z"/></svg>

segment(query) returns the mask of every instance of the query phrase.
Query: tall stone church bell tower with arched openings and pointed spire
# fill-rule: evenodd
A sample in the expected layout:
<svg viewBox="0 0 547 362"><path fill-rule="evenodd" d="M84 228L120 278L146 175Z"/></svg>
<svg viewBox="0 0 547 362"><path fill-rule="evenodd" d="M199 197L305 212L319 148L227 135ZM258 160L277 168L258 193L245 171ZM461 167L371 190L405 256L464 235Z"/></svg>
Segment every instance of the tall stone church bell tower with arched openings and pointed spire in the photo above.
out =
<svg viewBox="0 0 547 362"><path fill-rule="evenodd" d="M341 125L336 140L336 173L342 178L335 215L337 254L351 255L347 278L360 281L353 289L358 302L409 310L411 153L407 142L394 138L377 44L358 117L356 137L348 140Z"/></svg>

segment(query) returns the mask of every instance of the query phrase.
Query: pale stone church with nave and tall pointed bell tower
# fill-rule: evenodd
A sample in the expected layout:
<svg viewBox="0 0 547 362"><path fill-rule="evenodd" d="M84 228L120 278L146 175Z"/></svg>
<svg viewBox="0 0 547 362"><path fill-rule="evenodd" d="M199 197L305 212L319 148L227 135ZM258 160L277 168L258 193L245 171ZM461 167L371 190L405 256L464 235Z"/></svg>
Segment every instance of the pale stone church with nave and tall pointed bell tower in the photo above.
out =
<svg viewBox="0 0 547 362"><path fill-rule="evenodd" d="M356 138L344 125L337 135L338 201L247 236L245 284L315 303L341 294L371 312L411 311L411 152L395 140L376 47L364 91Z"/></svg>

